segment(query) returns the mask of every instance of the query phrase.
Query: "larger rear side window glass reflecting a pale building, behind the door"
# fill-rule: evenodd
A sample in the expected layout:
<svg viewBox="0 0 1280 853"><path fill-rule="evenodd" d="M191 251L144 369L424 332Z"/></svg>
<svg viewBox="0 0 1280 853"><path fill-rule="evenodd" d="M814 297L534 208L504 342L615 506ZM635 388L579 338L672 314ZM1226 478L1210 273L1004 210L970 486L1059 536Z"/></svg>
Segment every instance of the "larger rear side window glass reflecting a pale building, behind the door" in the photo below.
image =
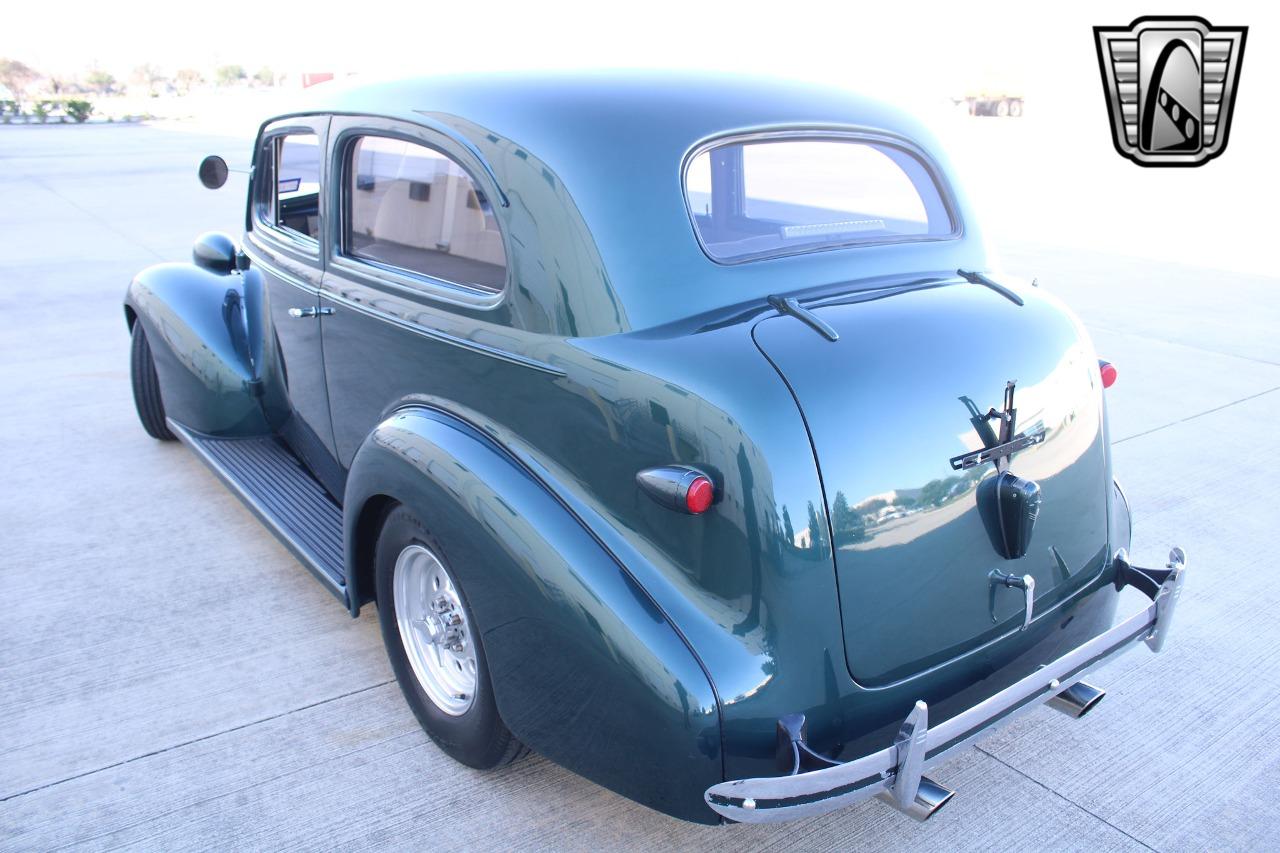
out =
<svg viewBox="0 0 1280 853"><path fill-rule="evenodd" d="M485 192L451 158L364 136L349 149L343 251L361 260L498 292L507 257Z"/></svg>

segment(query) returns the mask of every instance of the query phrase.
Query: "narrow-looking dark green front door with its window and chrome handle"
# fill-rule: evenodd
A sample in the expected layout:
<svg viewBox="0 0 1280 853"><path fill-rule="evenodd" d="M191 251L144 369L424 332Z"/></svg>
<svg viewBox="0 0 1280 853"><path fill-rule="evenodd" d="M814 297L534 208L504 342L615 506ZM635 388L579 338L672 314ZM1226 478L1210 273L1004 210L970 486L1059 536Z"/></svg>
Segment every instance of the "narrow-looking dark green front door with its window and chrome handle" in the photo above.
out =
<svg viewBox="0 0 1280 853"><path fill-rule="evenodd" d="M328 117L300 117L265 128L255 154L246 254L266 283L289 412L280 434L335 497L342 469L334 457L325 387L320 283L328 202L324 192Z"/></svg>

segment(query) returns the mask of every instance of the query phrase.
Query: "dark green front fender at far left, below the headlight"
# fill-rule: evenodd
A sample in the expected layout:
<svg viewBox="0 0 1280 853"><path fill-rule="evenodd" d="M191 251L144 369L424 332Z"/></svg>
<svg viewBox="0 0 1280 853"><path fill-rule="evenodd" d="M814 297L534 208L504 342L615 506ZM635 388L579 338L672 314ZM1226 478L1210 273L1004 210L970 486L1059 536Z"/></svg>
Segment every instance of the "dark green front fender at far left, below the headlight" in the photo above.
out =
<svg viewBox="0 0 1280 853"><path fill-rule="evenodd" d="M192 264L157 264L133 278L125 314L146 332L168 416L209 435L270 432L261 302L256 279Z"/></svg>

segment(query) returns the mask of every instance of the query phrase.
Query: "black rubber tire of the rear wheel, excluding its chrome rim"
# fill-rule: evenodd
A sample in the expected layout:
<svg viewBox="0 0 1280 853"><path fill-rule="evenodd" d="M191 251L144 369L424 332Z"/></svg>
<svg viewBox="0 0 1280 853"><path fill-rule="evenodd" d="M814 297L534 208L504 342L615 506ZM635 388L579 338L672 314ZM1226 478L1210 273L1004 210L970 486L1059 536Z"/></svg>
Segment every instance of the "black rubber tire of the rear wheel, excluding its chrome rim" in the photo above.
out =
<svg viewBox="0 0 1280 853"><path fill-rule="evenodd" d="M472 628L476 626L466 593L458 583L457 575L449 567L440 543L407 508L403 506L392 508L383 520L374 560L378 575L378 620L381 624L383 644L387 647L387 656L390 658L396 680L399 681L401 692L403 692L408 707L422 725L424 731L449 757L477 770L508 765L524 756L527 749L511 734L498 715L498 706L493 697L493 681L489 678L489 665L485 661L484 646L479 638L480 631L474 630L471 637L476 654L475 699L471 707L458 716L445 713L431 701L408 661L396 621L393 580L397 558L402 551L413 544L429 549L449 573L454 589L462 599L467 624Z"/></svg>

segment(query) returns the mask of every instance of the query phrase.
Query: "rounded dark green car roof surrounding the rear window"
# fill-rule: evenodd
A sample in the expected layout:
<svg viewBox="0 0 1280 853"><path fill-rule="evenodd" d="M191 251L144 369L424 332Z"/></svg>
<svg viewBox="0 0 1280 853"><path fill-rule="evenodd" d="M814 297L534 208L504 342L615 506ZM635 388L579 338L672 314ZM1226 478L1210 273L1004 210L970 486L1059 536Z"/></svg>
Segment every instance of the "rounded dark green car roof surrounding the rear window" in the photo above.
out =
<svg viewBox="0 0 1280 853"><path fill-rule="evenodd" d="M955 269L959 260L980 268L984 260L933 136L905 110L850 88L717 73L539 72L324 83L308 100L311 113L447 124L492 159L512 146L536 158L547 179L559 181L581 213L631 328L850 279L851 259L860 261L852 270L859 275L900 273L905 265ZM783 261L788 278L782 283L777 260L742 264L736 272L710 261L685 207L686 155L710 137L780 128L865 129L914 142L950 184L966 223L954 248L969 251L916 245L797 255ZM910 252L938 257L902 257ZM867 264L877 257L888 260ZM691 277L701 287L689 287ZM678 298L660 282L678 283Z"/></svg>

